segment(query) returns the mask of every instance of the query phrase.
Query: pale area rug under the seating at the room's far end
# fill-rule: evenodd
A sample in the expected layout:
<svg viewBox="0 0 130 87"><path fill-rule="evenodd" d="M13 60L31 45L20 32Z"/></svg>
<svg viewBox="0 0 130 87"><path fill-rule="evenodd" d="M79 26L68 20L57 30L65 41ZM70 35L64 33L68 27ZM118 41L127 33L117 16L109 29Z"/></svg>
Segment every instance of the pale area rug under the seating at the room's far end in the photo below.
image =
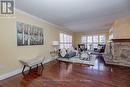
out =
<svg viewBox="0 0 130 87"><path fill-rule="evenodd" d="M71 63L80 63L80 64L86 64L86 65L94 65L96 56L93 55L91 56L90 60L81 60L79 57L75 56L70 59L68 58L58 58L57 60L59 61L64 61L64 62L71 62Z"/></svg>

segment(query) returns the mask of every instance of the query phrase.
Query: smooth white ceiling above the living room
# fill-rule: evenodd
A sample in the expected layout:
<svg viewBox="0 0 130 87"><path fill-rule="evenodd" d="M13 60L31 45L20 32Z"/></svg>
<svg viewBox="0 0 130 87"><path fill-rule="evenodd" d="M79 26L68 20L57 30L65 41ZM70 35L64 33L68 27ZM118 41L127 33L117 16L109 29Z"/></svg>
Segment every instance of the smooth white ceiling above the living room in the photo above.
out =
<svg viewBox="0 0 130 87"><path fill-rule="evenodd" d="M74 32L101 31L130 14L130 0L16 0L16 8Z"/></svg>

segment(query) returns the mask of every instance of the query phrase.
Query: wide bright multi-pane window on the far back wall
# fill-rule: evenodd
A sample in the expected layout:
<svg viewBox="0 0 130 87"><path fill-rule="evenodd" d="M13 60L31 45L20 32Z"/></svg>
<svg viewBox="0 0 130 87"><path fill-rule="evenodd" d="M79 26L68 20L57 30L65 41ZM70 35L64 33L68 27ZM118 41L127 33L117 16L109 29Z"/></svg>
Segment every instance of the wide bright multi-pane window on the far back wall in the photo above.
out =
<svg viewBox="0 0 130 87"><path fill-rule="evenodd" d="M92 36L82 36L81 43L85 44L87 49L97 48L98 44L105 44L105 35L92 35Z"/></svg>

